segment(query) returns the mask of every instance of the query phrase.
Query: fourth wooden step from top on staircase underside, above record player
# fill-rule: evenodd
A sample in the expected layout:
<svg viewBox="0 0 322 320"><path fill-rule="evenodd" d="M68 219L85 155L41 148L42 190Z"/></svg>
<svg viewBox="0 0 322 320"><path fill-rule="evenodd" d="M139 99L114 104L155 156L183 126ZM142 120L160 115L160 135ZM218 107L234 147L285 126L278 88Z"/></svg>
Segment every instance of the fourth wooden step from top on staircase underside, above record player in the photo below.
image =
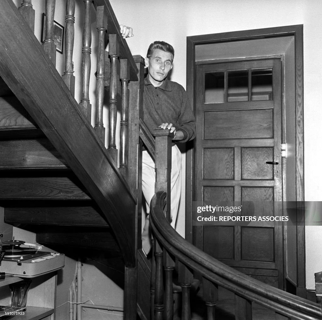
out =
<svg viewBox="0 0 322 320"><path fill-rule="evenodd" d="M108 227L109 224L95 205L47 207L5 207L5 223L17 226L19 224L57 225L57 226L93 226ZM87 204L87 205L86 205ZM62 204L61 204L62 205ZM65 204L66 205L66 204Z"/></svg>

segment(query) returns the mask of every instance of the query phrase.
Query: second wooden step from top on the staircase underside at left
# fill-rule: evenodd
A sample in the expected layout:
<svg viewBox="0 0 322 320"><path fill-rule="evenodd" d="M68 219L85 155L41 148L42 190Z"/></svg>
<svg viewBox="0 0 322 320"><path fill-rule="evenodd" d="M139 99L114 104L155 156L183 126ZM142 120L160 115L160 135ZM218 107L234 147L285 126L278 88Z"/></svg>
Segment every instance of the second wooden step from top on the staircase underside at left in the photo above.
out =
<svg viewBox="0 0 322 320"><path fill-rule="evenodd" d="M0 141L0 170L67 168L62 156L47 138Z"/></svg>

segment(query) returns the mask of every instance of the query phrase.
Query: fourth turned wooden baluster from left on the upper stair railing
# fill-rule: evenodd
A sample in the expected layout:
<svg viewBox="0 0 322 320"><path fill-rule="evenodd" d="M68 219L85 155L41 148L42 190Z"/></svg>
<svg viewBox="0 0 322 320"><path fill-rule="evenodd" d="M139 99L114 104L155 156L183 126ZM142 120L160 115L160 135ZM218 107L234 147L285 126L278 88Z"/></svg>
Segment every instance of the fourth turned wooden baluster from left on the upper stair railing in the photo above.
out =
<svg viewBox="0 0 322 320"><path fill-rule="evenodd" d="M87 119L91 120L91 109L90 104L90 45L92 43L92 31L91 31L91 18L90 18L90 8L92 0L84 0L84 25L83 25L83 48L82 48L82 61L81 61L81 71L82 71L82 95L81 102L79 103L81 110Z"/></svg>

